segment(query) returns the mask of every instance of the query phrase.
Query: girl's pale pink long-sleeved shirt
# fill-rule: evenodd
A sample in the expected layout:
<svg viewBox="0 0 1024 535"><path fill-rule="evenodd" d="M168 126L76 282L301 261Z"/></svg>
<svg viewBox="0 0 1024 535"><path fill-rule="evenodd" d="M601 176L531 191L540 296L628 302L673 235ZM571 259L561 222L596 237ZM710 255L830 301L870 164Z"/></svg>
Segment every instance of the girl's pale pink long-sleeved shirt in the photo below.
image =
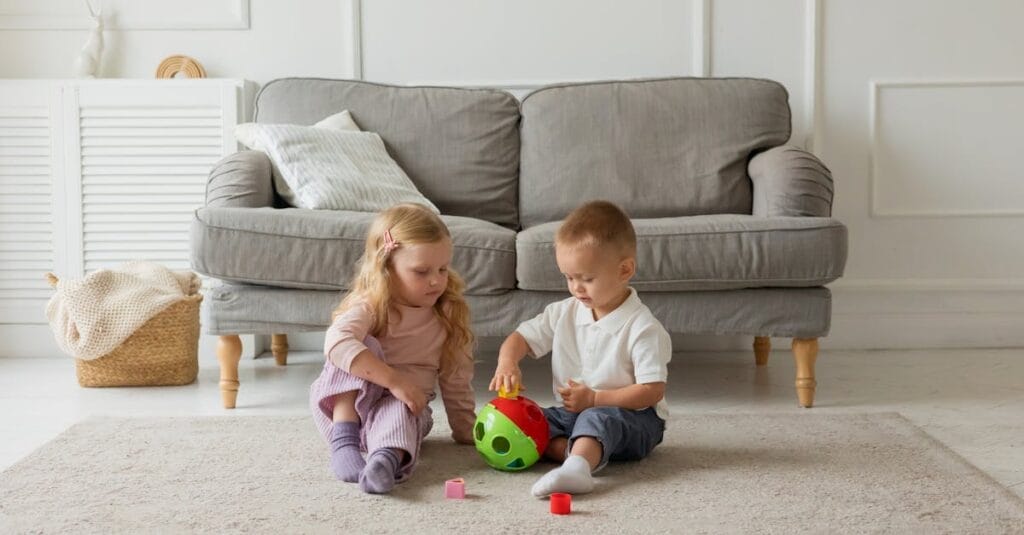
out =
<svg viewBox="0 0 1024 535"><path fill-rule="evenodd" d="M397 314L395 314L397 313ZM384 361L406 374L429 399L434 384L440 386L444 411L452 426L452 438L463 444L473 443L475 398L473 360L469 349L456 357L451 370L442 370L441 346L446 334L432 307L392 304L387 334L378 338L384 348ZM327 330L324 353L331 362L348 372L355 357L367 351L362 340L370 334L373 312L359 302L338 316Z"/></svg>

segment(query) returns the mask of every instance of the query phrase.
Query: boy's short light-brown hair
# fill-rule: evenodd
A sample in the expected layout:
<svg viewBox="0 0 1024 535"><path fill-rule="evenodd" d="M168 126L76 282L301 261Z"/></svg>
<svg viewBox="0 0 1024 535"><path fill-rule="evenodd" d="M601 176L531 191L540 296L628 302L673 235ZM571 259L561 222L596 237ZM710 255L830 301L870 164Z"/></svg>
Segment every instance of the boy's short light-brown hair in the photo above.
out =
<svg viewBox="0 0 1024 535"><path fill-rule="evenodd" d="M637 235L622 208L607 201L591 201L565 217L555 234L555 245L611 246L624 257L636 256Z"/></svg>

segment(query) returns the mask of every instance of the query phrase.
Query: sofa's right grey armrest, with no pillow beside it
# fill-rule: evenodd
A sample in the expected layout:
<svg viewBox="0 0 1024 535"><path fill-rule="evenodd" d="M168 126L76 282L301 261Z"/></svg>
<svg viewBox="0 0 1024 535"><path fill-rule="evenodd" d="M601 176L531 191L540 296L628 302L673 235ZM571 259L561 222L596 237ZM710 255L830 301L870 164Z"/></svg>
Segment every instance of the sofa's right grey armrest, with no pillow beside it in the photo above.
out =
<svg viewBox="0 0 1024 535"><path fill-rule="evenodd" d="M831 215L831 171L811 153L775 147L752 158L746 171L754 182L754 215Z"/></svg>

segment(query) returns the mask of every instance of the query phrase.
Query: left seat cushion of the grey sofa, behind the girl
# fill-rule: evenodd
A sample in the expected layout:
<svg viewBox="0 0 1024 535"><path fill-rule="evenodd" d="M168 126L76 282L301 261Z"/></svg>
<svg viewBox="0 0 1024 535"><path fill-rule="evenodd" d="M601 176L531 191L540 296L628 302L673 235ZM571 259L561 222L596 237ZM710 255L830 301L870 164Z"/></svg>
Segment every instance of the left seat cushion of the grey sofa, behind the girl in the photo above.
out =
<svg viewBox="0 0 1024 535"><path fill-rule="evenodd" d="M193 269L224 281L344 290L375 214L303 208L205 207L191 223ZM455 245L452 266L466 293L515 288L515 233L493 222L442 215Z"/></svg>

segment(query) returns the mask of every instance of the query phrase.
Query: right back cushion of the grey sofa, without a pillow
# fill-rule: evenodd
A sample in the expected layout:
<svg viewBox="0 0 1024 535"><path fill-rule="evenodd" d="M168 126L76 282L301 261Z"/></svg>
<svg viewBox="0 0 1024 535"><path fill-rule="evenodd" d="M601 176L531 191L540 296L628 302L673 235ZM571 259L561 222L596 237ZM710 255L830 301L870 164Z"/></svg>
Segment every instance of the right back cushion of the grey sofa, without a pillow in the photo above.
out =
<svg viewBox="0 0 1024 535"><path fill-rule="evenodd" d="M785 88L748 78L555 85L521 113L523 227L593 199L632 217L749 214L746 163L791 130Z"/></svg>

